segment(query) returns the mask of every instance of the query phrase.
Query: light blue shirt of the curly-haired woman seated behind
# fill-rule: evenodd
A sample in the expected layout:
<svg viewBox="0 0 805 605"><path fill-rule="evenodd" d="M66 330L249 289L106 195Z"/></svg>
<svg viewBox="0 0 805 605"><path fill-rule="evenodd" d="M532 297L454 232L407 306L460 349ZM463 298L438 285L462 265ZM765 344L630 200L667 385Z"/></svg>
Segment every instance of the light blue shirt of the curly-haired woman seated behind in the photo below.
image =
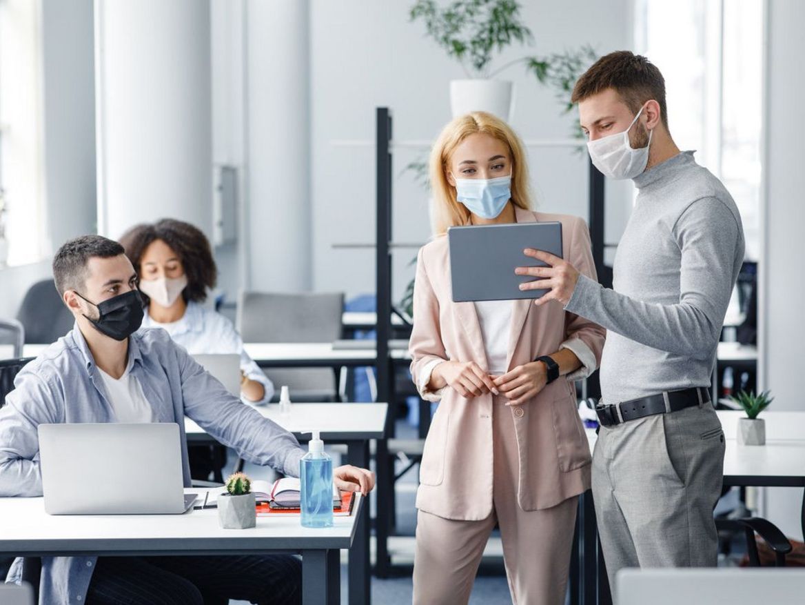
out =
<svg viewBox="0 0 805 605"><path fill-rule="evenodd" d="M244 402L254 405L267 404L274 395L274 384L268 376L258 367L257 363L243 350L241 335L226 317L212 309L204 309L195 302L188 302L188 308L179 321L169 324L160 324L151 319L148 309L142 318L140 330L148 328L162 328L171 335L171 338L184 346L191 355L198 354L238 354L241 356L241 370L250 380L256 380L266 389L262 400Z"/></svg>

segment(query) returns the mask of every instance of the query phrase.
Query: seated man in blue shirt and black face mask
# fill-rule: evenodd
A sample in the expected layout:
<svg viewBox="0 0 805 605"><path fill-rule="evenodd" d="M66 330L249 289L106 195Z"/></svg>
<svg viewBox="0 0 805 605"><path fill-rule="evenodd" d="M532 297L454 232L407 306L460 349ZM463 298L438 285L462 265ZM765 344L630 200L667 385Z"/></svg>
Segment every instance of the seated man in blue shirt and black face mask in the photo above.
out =
<svg viewBox="0 0 805 605"><path fill-rule="evenodd" d="M246 460L298 476L295 437L241 403L163 329L134 334L142 301L118 242L72 239L53 277L76 317L71 332L20 371L0 409L0 496L42 495L37 426L60 422L175 422L184 416ZM341 490L369 493L369 470L340 466ZM19 578L20 560L10 572ZM41 603L300 603L301 565L291 555L244 557L43 557Z"/></svg>

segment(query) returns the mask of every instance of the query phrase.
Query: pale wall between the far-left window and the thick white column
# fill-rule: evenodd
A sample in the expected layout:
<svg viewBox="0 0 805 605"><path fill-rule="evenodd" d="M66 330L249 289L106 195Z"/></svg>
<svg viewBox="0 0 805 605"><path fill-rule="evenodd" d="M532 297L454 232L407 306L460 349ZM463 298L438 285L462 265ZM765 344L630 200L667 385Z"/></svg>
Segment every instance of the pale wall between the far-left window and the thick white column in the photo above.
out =
<svg viewBox="0 0 805 605"><path fill-rule="evenodd" d="M43 149L47 255L95 230L93 0L43 0ZM0 270L0 317L51 276L50 258Z"/></svg>

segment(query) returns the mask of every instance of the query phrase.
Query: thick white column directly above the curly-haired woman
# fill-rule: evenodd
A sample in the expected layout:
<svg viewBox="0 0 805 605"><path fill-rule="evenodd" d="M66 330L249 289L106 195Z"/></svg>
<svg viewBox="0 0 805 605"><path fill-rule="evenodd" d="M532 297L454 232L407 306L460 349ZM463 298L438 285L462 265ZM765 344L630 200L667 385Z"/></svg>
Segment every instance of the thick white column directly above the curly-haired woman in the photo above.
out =
<svg viewBox="0 0 805 605"><path fill-rule="evenodd" d="M209 0L96 0L98 232L212 232Z"/></svg>

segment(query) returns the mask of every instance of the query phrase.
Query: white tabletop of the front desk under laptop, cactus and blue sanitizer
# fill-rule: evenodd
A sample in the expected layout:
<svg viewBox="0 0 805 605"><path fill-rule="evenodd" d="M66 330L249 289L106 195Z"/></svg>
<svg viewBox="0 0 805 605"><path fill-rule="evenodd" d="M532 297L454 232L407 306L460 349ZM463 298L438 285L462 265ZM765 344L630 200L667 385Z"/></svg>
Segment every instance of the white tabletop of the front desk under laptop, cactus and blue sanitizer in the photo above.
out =
<svg viewBox="0 0 805 605"><path fill-rule="evenodd" d="M204 490L186 489L202 493ZM222 529L214 508L184 515L48 515L43 498L0 498L0 551L109 553L346 549L360 512L335 517L332 528L303 528L298 516L258 516L257 527Z"/></svg>

